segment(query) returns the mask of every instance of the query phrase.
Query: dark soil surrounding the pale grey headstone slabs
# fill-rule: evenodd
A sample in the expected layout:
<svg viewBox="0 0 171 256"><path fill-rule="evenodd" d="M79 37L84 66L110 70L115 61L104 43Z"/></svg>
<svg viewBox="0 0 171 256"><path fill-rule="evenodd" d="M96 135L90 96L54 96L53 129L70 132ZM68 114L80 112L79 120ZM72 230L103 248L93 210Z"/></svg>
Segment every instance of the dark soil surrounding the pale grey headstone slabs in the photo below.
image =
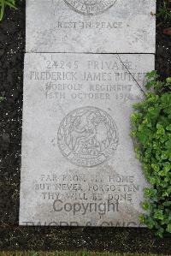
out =
<svg viewBox="0 0 171 256"><path fill-rule="evenodd" d="M171 236L156 239L148 229L18 226L25 1L17 1L17 6L15 12L8 9L0 23L0 96L6 98L0 104L0 250L171 254ZM171 76L171 38L163 29L171 24L162 18L156 23L156 69L165 79Z"/></svg>

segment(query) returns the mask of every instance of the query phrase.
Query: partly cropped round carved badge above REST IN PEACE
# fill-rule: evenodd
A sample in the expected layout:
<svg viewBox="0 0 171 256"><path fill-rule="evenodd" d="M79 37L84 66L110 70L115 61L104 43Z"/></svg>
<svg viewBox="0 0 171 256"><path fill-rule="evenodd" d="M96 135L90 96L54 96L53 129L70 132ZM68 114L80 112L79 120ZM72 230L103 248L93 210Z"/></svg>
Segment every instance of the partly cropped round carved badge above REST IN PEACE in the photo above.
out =
<svg viewBox="0 0 171 256"><path fill-rule="evenodd" d="M64 0L76 12L83 15L97 15L109 9L116 0Z"/></svg>

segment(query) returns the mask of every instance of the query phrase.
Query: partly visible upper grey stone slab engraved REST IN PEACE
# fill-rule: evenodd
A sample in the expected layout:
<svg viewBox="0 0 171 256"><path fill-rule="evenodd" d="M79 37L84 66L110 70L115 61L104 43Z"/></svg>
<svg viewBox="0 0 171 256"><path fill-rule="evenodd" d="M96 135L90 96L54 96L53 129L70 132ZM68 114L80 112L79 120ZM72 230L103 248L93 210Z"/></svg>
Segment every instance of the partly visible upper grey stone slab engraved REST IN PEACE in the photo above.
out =
<svg viewBox="0 0 171 256"><path fill-rule="evenodd" d="M155 0L27 0L27 52L155 53Z"/></svg>

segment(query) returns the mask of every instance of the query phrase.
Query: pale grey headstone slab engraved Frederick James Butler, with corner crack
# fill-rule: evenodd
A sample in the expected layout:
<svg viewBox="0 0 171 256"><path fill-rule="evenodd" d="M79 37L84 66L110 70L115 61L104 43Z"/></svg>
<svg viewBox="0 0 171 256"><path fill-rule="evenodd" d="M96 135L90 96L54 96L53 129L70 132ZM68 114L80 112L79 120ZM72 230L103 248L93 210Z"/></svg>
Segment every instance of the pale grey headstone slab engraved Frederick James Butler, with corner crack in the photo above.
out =
<svg viewBox="0 0 171 256"><path fill-rule="evenodd" d="M153 55L120 55L139 82ZM21 225L139 226L130 138L142 92L117 55L26 54Z"/></svg>

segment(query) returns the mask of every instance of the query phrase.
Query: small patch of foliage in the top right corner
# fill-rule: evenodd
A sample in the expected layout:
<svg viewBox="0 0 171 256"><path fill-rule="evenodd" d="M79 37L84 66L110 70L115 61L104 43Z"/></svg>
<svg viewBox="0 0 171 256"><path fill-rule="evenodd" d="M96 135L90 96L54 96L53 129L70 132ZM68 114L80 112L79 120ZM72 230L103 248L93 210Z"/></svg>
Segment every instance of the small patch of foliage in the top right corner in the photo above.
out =
<svg viewBox="0 0 171 256"><path fill-rule="evenodd" d="M169 0L161 3L157 16L161 17L163 21L171 21L171 3Z"/></svg>

